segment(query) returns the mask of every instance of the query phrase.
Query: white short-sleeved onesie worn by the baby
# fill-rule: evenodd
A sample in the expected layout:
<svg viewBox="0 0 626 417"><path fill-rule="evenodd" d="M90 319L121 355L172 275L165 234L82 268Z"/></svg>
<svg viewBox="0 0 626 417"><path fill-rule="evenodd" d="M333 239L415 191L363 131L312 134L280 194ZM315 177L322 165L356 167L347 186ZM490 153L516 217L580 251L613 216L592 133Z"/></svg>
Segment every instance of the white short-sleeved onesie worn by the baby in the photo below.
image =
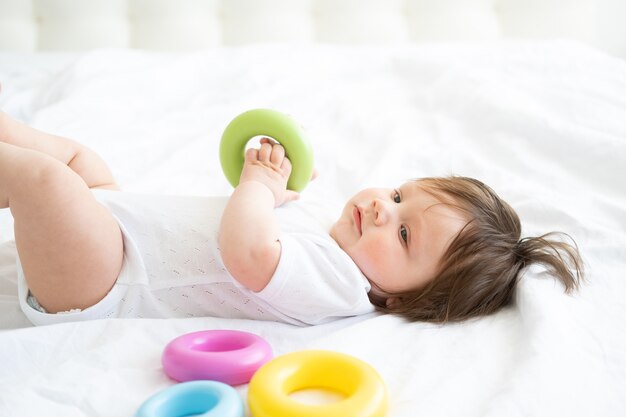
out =
<svg viewBox="0 0 626 417"><path fill-rule="evenodd" d="M329 236L321 206L275 209L281 255L260 292L226 271L217 236L227 197L186 197L94 190L124 237L122 271L107 296L82 311L48 314L28 302L18 260L20 306L37 325L107 317L231 317L320 324L374 311L370 284Z"/></svg>

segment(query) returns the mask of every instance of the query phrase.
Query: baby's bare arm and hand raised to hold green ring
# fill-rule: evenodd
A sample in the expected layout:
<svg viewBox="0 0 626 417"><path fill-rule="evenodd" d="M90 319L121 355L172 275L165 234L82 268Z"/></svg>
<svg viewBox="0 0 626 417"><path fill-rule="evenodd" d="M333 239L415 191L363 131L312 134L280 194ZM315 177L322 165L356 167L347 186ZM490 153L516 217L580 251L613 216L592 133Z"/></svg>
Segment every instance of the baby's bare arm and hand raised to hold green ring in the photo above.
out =
<svg viewBox="0 0 626 417"><path fill-rule="evenodd" d="M252 291L270 282L280 259L280 232L274 208L298 198L287 190L291 163L281 145L261 140L248 149L239 185L220 224L219 245L228 272Z"/></svg>

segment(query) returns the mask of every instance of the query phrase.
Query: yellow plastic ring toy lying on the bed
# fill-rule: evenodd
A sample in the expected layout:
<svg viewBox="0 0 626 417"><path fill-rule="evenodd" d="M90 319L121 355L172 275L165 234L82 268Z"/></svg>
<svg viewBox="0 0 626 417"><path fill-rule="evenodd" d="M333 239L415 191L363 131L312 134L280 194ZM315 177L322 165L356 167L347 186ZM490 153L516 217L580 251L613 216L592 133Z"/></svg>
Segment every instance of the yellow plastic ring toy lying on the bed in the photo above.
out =
<svg viewBox="0 0 626 417"><path fill-rule="evenodd" d="M304 404L289 394L310 388L339 392L330 404ZM387 389L378 373L352 356L305 350L279 356L263 365L248 386L253 417L383 417Z"/></svg>

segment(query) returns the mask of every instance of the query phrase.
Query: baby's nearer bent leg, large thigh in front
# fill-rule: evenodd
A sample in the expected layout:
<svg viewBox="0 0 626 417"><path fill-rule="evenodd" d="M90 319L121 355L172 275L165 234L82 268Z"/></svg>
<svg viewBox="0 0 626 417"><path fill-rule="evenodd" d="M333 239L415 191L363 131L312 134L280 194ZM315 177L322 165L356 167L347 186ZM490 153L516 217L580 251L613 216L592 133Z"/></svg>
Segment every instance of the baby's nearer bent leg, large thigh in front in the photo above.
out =
<svg viewBox="0 0 626 417"><path fill-rule="evenodd" d="M121 232L66 164L0 142L0 208L5 207L15 220L28 287L46 310L86 308L108 293L122 265Z"/></svg>

